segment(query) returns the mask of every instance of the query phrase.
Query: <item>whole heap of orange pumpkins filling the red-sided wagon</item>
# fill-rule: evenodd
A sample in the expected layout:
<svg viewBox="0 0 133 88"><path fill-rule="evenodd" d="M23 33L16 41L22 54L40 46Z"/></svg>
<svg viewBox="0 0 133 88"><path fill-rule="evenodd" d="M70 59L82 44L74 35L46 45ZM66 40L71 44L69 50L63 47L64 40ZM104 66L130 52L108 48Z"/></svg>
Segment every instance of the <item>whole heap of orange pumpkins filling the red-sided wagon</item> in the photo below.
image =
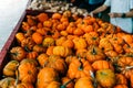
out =
<svg viewBox="0 0 133 88"><path fill-rule="evenodd" d="M132 88L133 36L91 16L27 15L1 88Z"/></svg>

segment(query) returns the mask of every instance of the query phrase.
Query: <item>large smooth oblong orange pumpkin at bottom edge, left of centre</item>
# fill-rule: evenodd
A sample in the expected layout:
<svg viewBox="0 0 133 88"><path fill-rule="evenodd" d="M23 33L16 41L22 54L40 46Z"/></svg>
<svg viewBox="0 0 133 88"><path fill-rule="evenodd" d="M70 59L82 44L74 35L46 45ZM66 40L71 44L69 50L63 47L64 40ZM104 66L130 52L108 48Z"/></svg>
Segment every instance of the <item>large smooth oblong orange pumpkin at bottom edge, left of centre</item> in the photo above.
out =
<svg viewBox="0 0 133 88"><path fill-rule="evenodd" d="M58 81L59 74L51 67L40 69L37 79L37 88L47 88L51 81Z"/></svg>

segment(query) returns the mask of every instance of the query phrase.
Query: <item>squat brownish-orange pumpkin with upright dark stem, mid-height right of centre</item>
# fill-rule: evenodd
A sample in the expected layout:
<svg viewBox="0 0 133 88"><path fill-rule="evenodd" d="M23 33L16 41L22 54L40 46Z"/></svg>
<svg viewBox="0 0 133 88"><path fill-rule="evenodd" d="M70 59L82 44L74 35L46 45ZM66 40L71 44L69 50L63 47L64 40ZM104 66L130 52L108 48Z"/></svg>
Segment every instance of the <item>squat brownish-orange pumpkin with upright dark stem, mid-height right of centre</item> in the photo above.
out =
<svg viewBox="0 0 133 88"><path fill-rule="evenodd" d="M95 45L90 46L89 51L86 52L86 59L90 63L93 63L99 59L104 59L104 58L105 58L104 53L102 52L101 48L99 48Z"/></svg>

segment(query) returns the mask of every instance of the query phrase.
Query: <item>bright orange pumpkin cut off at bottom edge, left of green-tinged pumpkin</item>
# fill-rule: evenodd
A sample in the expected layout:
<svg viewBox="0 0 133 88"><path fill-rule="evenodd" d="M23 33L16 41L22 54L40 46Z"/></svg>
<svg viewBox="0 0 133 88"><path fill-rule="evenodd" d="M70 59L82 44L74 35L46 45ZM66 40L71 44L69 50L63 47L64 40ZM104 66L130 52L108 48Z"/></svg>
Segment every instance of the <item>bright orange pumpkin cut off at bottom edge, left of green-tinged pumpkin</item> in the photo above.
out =
<svg viewBox="0 0 133 88"><path fill-rule="evenodd" d="M90 77L82 77L75 81L74 88L94 88Z"/></svg>

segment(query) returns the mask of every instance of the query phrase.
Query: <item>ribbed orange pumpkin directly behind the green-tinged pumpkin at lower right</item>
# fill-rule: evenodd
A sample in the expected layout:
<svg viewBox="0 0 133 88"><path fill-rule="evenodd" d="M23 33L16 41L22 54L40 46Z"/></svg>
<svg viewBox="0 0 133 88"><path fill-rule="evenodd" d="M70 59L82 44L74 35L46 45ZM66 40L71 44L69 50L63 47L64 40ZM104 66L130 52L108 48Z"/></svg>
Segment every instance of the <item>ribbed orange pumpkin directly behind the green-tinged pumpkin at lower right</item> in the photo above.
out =
<svg viewBox="0 0 133 88"><path fill-rule="evenodd" d="M105 68L110 68L114 70L113 65L108 61L95 61L94 63L92 63L92 67L94 68L94 70L100 70Z"/></svg>

